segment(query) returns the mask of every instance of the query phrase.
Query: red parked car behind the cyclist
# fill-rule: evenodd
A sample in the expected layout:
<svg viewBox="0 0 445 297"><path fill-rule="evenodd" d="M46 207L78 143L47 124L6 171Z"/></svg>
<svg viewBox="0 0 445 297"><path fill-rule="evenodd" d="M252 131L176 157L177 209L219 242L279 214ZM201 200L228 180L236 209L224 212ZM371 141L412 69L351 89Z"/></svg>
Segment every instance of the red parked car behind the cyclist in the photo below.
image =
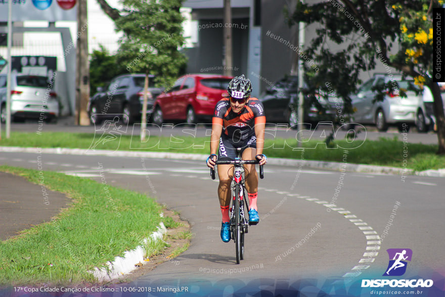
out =
<svg viewBox="0 0 445 297"><path fill-rule="evenodd" d="M232 76L219 74L187 74L181 76L170 89L156 98L153 123L165 120L186 120L197 123L210 120L216 102L227 97L227 86Z"/></svg>

